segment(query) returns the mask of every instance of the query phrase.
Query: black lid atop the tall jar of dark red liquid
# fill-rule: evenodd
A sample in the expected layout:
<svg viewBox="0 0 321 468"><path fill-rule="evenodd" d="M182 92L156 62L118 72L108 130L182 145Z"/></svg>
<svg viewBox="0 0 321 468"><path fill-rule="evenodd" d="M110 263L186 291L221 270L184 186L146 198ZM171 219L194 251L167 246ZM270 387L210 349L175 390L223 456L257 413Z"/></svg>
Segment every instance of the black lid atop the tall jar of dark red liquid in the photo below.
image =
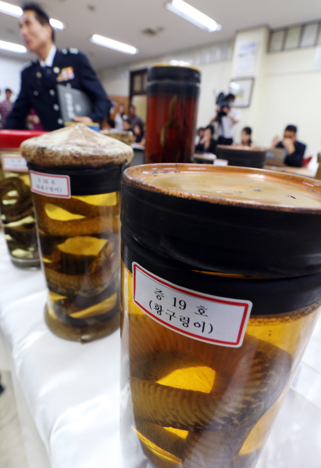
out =
<svg viewBox="0 0 321 468"><path fill-rule="evenodd" d="M172 65L170 63L154 63L148 69L148 81L175 80L201 83L201 70L189 65Z"/></svg>

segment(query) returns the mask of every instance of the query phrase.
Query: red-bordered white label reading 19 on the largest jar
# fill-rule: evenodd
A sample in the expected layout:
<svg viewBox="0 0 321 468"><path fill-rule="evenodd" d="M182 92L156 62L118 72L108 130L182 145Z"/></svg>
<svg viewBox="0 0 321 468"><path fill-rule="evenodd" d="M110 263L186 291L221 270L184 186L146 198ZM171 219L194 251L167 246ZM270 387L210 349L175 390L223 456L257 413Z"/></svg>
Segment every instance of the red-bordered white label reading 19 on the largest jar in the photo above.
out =
<svg viewBox="0 0 321 468"><path fill-rule="evenodd" d="M194 340L238 348L252 302L177 286L132 263L133 300L153 320Z"/></svg>

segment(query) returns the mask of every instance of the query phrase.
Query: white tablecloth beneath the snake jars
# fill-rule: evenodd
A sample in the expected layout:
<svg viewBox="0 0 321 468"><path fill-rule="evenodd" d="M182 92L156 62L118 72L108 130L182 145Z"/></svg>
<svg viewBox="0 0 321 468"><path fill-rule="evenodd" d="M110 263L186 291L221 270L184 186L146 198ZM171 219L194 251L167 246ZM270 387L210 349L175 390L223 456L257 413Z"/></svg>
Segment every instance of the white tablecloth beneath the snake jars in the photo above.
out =
<svg viewBox="0 0 321 468"><path fill-rule="evenodd" d="M14 267L3 234L0 285L0 329L51 467L119 468L119 330L84 345L54 336L42 272ZM321 320L257 468L321 466L320 339Z"/></svg>

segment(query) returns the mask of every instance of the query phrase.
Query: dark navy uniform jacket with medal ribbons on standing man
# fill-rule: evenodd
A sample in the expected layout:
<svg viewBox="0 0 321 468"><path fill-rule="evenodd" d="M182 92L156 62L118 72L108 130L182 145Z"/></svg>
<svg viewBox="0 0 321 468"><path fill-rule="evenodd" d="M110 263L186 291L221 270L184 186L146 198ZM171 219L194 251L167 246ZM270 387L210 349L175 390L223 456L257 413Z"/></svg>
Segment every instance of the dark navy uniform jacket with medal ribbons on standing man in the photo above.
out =
<svg viewBox="0 0 321 468"><path fill-rule="evenodd" d="M87 57L77 49L57 49L51 68L41 67L36 60L22 71L21 90L5 128L25 128L30 109L35 109L44 130L63 127L57 84L71 86L87 94L92 103L88 117L93 122L101 124L108 115L110 101Z"/></svg>

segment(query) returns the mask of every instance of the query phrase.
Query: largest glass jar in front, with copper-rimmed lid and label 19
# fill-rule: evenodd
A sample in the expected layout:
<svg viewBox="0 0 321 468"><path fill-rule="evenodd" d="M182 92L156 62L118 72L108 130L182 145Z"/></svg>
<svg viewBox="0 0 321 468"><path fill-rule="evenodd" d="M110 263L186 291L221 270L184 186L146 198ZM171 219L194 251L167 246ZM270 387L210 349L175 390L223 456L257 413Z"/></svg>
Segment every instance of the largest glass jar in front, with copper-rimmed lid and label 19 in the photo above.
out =
<svg viewBox="0 0 321 468"><path fill-rule="evenodd" d="M321 183L305 184L203 165L124 172L124 467L255 466L321 310Z"/></svg>

